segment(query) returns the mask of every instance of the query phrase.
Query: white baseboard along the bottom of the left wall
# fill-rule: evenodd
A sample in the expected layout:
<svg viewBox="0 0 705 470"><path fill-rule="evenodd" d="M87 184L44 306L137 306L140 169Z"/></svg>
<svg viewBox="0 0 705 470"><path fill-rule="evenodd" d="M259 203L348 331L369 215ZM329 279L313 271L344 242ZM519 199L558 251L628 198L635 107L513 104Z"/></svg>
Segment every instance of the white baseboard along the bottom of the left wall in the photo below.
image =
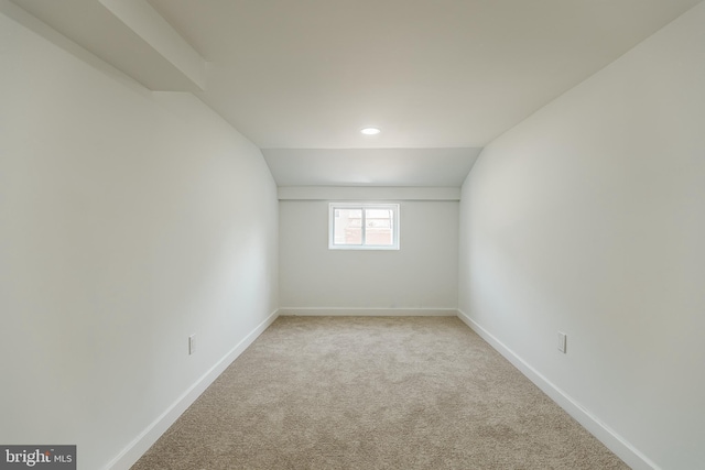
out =
<svg viewBox="0 0 705 470"><path fill-rule="evenodd" d="M200 376L176 402L161 414L147 429L134 438L115 459L108 463L106 470L128 470L144 452L170 428L171 425L200 396L203 392L240 356L276 318L279 310L274 310L264 321L248 334L235 348L220 359L213 368Z"/></svg>

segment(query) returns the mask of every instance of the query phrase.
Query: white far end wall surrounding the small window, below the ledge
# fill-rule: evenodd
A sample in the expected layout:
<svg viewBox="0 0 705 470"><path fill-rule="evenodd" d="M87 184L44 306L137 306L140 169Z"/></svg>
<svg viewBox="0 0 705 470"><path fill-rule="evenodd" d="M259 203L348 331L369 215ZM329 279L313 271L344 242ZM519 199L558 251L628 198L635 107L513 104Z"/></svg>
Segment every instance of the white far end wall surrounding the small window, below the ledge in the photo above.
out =
<svg viewBox="0 0 705 470"><path fill-rule="evenodd" d="M328 201L280 201L282 308L455 309L458 203L400 205L400 250L354 251L328 250Z"/></svg>

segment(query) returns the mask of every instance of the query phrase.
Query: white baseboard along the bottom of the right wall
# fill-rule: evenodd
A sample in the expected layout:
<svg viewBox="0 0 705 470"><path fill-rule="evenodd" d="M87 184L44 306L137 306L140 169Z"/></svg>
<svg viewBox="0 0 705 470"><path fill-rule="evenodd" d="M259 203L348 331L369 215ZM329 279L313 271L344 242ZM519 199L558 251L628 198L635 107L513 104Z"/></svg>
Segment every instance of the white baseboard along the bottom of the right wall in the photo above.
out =
<svg viewBox="0 0 705 470"><path fill-rule="evenodd" d="M482 328L473 320L467 314L458 309L458 318L463 320L473 331L487 341L519 371L524 374L531 382L551 397L567 414L573 416L583 427L585 427L593 436L601 441L609 450L615 452L617 457L622 459L625 463L633 470L661 470L652 460L640 452L636 447L629 444L625 438L617 434L614 429L599 420L597 416L584 408L579 403L563 392L549 381L541 372L535 370L514 351L509 349L503 342L497 339L492 334Z"/></svg>

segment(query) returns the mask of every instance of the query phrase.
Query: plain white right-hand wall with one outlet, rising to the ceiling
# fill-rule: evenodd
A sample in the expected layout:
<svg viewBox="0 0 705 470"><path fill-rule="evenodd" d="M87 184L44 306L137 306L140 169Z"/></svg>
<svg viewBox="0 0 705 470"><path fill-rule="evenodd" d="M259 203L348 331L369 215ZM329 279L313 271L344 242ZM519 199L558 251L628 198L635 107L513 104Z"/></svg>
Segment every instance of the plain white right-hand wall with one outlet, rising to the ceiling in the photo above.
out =
<svg viewBox="0 0 705 470"><path fill-rule="evenodd" d="M702 468L704 241L701 3L482 152L459 308L636 468Z"/></svg>

